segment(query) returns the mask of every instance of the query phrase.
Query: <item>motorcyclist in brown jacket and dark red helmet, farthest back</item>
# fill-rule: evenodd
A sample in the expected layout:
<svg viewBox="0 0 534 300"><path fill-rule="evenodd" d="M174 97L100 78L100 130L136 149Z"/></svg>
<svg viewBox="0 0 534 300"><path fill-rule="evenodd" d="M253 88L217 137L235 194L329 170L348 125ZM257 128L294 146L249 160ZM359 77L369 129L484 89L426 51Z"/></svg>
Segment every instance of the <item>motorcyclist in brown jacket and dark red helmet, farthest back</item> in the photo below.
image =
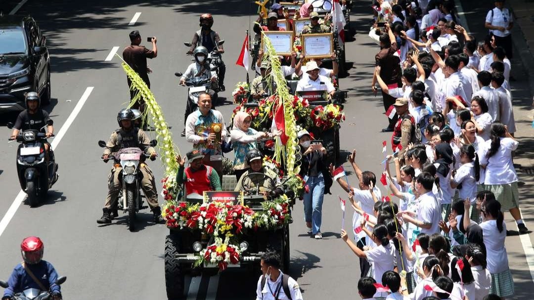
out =
<svg viewBox="0 0 534 300"><path fill-rule="evenodd" d="M193 35L193 41L191 41L191 48L189 51L187 51L187 54L193 54L195 48L198 46L204 46L208 53L212 52L214 49L217 49L219 53L224 53L223 46L217 46L217 43L221 41L221 38L219 35L214 31L211 30L211 26L213 26L213 17L210 13L205 13L200 16L200 24L199 26L202 27L199 31L195 32ZM206 54L207 57L207 54ZM221 66L219 66L219 88L221 91L225 91L226 88L224 87L224 75L226 74L226 66L224 65L224 61L221 60Z"/></svg>

